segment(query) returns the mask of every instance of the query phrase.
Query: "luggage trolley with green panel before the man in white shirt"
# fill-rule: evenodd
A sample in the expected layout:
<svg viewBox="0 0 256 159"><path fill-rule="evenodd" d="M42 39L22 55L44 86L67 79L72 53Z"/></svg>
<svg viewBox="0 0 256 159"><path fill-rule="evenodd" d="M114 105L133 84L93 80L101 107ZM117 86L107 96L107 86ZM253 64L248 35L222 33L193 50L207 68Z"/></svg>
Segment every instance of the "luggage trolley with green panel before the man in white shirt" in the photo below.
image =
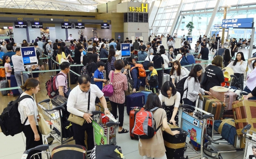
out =
<svg viewBox="0 0 256 159"><path fill-rule="evenodd" d="M115 120L111 115L106 115L108 117L108 122L102 122L101 111L93 111L93 127L94 127L94 145L106 145L112 144L116 145L116 127L120 124L119 121Z"/></svg>

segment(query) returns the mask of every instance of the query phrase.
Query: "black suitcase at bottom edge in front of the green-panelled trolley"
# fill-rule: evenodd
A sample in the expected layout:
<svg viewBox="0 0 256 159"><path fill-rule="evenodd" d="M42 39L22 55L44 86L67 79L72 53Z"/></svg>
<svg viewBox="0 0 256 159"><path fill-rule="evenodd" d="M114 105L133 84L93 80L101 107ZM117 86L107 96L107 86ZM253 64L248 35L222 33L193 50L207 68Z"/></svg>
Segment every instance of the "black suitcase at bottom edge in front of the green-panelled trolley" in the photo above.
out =
<svg viewBox="0 0 256 159"><path fill-rule="evenodd" d="M115 149L118 152L115 152ZM121 147L117 145L96 145L94 146L90 159L122 159Z"/></svg>

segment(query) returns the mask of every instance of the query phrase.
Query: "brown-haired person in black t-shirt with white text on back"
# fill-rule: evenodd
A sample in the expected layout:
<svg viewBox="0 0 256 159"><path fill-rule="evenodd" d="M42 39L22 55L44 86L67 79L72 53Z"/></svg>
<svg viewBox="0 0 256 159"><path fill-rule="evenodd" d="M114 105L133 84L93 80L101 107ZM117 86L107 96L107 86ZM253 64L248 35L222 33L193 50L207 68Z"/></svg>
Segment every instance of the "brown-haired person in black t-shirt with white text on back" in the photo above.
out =
<svg viewBox="0 0 256 159"><path fill-rule="evenodd" d="M214 86L221 86L221 83L224 82L222 61L222 56L217 55L212 60L212 64L205 69L205 73L207 74L207 80L204 84L206 91L209 91L210 88L213 88Z"/></svg>

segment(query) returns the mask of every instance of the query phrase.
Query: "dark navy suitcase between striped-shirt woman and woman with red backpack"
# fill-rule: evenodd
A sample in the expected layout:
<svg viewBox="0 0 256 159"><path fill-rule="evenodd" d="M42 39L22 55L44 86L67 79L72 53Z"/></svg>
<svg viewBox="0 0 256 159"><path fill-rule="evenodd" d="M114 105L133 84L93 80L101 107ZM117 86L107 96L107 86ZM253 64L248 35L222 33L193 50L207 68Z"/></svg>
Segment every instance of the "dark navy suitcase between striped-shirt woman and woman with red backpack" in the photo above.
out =
<svg viewBox="0 0 256 159"><path fill-rule="evenodd" d="M136 105L135 105L136 104ZM145 95L141 92L133 93L131 95L126 96L126 112L129 115L131 109L136 107L143 107L145 105Z"/></svg>

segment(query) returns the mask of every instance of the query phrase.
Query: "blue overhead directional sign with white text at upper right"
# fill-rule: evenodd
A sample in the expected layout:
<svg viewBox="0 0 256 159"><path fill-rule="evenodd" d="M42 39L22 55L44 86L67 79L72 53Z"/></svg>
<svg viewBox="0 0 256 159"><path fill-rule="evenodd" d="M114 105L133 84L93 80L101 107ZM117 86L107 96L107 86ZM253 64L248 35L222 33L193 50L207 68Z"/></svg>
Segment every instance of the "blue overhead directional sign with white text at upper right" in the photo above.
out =
<svg viewBox="0 0 256 159"><path fill-rule="evenodd" d="M252 28L254 18L223 19L222 28Z"/></svg>

